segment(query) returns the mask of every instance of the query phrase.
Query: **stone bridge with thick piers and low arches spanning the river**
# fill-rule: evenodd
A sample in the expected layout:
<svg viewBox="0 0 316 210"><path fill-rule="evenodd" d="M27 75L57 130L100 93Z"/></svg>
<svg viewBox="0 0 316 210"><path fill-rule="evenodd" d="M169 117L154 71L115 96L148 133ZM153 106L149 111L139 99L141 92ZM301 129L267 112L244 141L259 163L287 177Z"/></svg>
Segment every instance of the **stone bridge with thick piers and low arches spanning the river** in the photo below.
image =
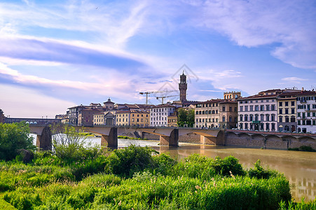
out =
<svg viewBox="0 0 316 210"><path fill-rule="evenodd" d="M42 150L50 150L52 148L52 134L49 126L29 125L30 132L36 134L36 146ZM162 146L178 146L179 136L185 134L199 134L201 144L224 145L224 130L200 130L195 128L174 128L174 127L76 127L76 130L92 132L101 135L101 146L116 148L118 146L118 135L122 135L126 130L135 132L146 132L155 134L160 137L160 145Z"/></svg>

